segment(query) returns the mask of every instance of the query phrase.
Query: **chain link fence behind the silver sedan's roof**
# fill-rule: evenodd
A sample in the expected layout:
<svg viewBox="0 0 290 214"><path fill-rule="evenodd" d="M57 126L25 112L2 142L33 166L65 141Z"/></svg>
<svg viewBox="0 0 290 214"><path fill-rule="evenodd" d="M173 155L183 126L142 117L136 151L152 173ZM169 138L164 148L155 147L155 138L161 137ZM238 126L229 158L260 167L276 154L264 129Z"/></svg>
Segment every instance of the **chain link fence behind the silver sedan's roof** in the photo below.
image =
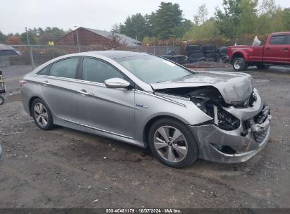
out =
<svg viewBox="0 0 290 214"><path fill-rule="evenodd" d="M19 56L0 56L0 68L11 65L31 65L32 68L36 68L38 65L53 58L69 53L111 49L109 46L12 45L12 47L22 54ZM165 55L168 51L174 51L176 55L181 54L180 46L122 46L118 50L153 53L156 55Z"/></svg>

